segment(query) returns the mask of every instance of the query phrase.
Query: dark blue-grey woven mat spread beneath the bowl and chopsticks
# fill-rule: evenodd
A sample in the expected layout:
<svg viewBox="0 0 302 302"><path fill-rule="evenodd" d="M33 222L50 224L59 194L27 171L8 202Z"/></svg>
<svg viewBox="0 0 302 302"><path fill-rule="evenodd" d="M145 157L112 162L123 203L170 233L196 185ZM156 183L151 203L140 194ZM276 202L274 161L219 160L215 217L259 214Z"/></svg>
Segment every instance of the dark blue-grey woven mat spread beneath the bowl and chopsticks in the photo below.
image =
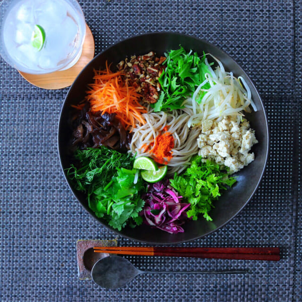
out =
<svg viewBox="0 0 302 302"><path fill-rule="evenodd" d="M80 3L96 54L135 34L173 31L217 45L263 99L270 157L250 203L229 224L182 246L280 246L276 263L129 257L141 269L248 269L245 275L142 275L105 290L80 281L78 239L114 239L73 197L60 169L57 126L68 89L42 90L0 61L1 301L301 301L301 1ZM155 41L156 42L156 41ZM118 237L121 245L135 242Z"/></svg>

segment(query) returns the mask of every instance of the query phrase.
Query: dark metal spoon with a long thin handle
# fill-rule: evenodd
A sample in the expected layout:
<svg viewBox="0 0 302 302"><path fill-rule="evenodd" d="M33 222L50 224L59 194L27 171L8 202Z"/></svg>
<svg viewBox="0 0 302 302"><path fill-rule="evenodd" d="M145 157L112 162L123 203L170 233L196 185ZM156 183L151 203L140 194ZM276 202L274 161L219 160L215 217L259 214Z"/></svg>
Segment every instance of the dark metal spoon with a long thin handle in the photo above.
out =
<svg viewBox="0 0 302 302"><path fill-rule="evenodd" d="M118 288L129 283L139 274L245 274L247 270L223 271L142 271L130 261L119 256L109 256L100 259L92 268L91 275L94 282L104 288Z"/></svg>

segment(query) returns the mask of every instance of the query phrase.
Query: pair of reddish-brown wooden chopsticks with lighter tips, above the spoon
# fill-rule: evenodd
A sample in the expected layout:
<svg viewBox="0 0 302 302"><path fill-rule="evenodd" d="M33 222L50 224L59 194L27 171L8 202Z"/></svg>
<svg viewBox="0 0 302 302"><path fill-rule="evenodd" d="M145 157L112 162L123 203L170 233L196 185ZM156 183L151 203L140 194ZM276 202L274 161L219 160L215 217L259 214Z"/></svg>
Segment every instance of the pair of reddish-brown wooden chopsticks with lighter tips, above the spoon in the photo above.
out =
<svg viewBox="0 0 302 302"><path fill-rule="evenodd" d="M280 260L279 248L95 247L96 253L212 259Z"/></svg>

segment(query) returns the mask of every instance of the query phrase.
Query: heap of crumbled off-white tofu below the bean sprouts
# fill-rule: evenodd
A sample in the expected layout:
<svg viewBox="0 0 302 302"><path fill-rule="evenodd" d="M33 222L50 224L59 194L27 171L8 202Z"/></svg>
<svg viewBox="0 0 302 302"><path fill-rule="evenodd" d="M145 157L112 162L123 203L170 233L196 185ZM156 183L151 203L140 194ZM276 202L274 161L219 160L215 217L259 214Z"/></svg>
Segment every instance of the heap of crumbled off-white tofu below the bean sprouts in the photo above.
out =
<svg viewBox="0 0 302 302"><path fill-rule="evenodd" d="M258 140L248 121L226 116L219 122L205 120L201 126L198 155L204 159L229 167L230 173L238 172L255 159L254 153L249 152Z"/></svg>

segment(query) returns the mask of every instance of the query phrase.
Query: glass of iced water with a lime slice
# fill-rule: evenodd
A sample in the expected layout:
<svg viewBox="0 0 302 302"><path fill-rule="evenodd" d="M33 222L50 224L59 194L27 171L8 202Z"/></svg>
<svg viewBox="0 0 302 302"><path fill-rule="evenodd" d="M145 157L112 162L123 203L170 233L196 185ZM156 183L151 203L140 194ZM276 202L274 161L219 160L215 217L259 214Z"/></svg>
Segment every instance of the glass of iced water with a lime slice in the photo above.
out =
<svg viewBox="0 0 302 302"><path fill-rule="evenodd" d="M0 54L32 74L65 70L80 58L86 22L76 0L4 0Z"/></svg>

